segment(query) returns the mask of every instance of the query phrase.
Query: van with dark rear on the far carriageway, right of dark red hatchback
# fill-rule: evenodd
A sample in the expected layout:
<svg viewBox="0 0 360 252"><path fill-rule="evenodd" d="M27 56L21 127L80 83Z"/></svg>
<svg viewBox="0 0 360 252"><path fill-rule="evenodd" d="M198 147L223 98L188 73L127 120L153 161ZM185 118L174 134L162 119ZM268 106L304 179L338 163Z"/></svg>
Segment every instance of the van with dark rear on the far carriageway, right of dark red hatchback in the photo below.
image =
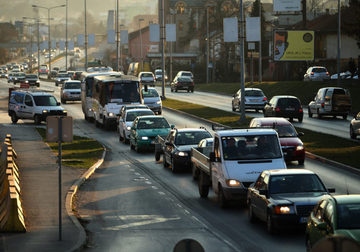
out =
<svg viewBox="0 0 360 252"><path fill-rule="evenodd" d="M323 116L342 116L347 119L351 111L351 97L349 91L340 87L320 88L313 101L308 105L308 115L314 114L319 119Z"/></svg>

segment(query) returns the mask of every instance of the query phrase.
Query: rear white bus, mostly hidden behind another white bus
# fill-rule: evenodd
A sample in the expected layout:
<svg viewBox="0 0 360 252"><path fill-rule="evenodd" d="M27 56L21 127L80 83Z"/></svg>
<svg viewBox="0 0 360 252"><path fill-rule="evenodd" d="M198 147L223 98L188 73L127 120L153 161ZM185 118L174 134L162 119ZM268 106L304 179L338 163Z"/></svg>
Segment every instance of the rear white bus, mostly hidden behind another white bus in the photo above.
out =
<svg viewBox="0 0 360 252"><path fill-rule="evenodd" d="M94 120L93 105L93 82L95 76L100 75L116 75L118 72L101 71L101 72L83 72L81 74L81 107L85 116L85 120L92 122Z"/></svg>

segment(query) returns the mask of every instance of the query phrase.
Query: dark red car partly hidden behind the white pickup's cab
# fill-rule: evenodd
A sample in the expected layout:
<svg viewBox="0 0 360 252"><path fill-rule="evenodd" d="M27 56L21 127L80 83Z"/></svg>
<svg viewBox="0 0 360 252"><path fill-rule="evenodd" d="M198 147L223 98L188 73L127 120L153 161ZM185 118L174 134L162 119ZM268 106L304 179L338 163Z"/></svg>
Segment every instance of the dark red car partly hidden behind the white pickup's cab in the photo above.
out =
<svg viewBox="0 0 360 252"><path fill-rule="evenodd" d="M285 161L297 161L300 165L304 164L305 146L299 138L304 136L304 133L297 132L291 122L281 117L256 117L250 121L249 127L274 128L279 135Z"/></svg>

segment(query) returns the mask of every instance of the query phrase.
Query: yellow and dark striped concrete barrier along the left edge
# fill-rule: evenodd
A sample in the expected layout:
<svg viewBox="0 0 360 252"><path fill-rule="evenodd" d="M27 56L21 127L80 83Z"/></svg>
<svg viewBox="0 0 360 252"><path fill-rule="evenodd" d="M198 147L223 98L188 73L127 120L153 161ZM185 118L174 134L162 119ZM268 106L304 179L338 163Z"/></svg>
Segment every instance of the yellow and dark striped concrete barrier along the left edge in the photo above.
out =
<svg viewBox="0 0 360 252"><path fill-rule="evenodd" d="M6 135L0 156L0 231L26 232L24 211L21 206L20 172L17 154Z"/></svg>

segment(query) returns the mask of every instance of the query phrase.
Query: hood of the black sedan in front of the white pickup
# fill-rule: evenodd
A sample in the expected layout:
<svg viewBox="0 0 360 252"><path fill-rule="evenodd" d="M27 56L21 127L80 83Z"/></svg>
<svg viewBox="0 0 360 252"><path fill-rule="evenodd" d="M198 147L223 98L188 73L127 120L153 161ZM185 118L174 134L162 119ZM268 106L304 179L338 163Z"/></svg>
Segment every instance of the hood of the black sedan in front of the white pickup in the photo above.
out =
<svg viewBox="0 0 360 252"><path fill-rule="evenodd" d="M316 203L324 196L327 192L300 192L300 193L277 193L271 194L270 197L276 202L277 205L286 204L299 204L307 203L310 205L316 205Z"/></svg>

